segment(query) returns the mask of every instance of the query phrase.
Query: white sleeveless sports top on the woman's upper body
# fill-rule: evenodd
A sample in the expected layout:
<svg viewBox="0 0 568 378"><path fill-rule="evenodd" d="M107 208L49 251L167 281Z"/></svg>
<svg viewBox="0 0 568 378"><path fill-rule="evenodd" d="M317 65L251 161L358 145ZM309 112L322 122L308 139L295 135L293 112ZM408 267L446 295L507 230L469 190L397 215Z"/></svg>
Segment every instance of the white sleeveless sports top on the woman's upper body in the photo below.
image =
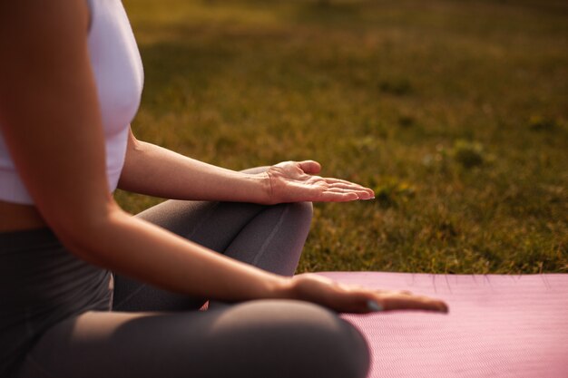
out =
<svg viewBox="0 0 568 378"><path fill-rule="evenodd" d="M143 71L140 53L121 0L90 0L88 46L103 116L109 190L118 185L129 124L138 111ZM72 157L70 157L72 159ZM0 200L33 204L0 132Z"/></svg>

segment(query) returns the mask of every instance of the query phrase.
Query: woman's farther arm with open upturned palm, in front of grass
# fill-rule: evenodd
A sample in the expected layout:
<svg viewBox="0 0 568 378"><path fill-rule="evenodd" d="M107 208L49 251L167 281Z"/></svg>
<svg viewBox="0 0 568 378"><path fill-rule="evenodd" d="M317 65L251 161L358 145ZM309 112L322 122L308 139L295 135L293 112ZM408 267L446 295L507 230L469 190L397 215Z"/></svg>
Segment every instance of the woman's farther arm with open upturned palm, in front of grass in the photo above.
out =
<svg viewBox="0 0 568 378"><path fill-rule="evenodd" d="M138 141L131 131L119 188L166 199L263 204L374 198L371 189L314 176L319 170L315 161L283 162L261 174L225 170Z"/></svg>

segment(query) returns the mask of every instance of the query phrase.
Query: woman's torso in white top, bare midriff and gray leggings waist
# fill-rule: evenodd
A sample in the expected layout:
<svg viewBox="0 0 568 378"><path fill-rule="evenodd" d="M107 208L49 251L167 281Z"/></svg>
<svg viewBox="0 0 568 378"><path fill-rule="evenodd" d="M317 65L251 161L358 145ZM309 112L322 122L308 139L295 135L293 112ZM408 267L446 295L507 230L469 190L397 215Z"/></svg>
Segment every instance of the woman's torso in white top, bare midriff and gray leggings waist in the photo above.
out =
<svg viewBox="0 0 568 378"><path fill-rule="evenodd" d="M142 63L121 1L91 0L90 9L88 47L112 191L140 102ZM0 376L15 369L54 324L110 309L110 272L73 256L45 226L0 133Z"/></svg>

